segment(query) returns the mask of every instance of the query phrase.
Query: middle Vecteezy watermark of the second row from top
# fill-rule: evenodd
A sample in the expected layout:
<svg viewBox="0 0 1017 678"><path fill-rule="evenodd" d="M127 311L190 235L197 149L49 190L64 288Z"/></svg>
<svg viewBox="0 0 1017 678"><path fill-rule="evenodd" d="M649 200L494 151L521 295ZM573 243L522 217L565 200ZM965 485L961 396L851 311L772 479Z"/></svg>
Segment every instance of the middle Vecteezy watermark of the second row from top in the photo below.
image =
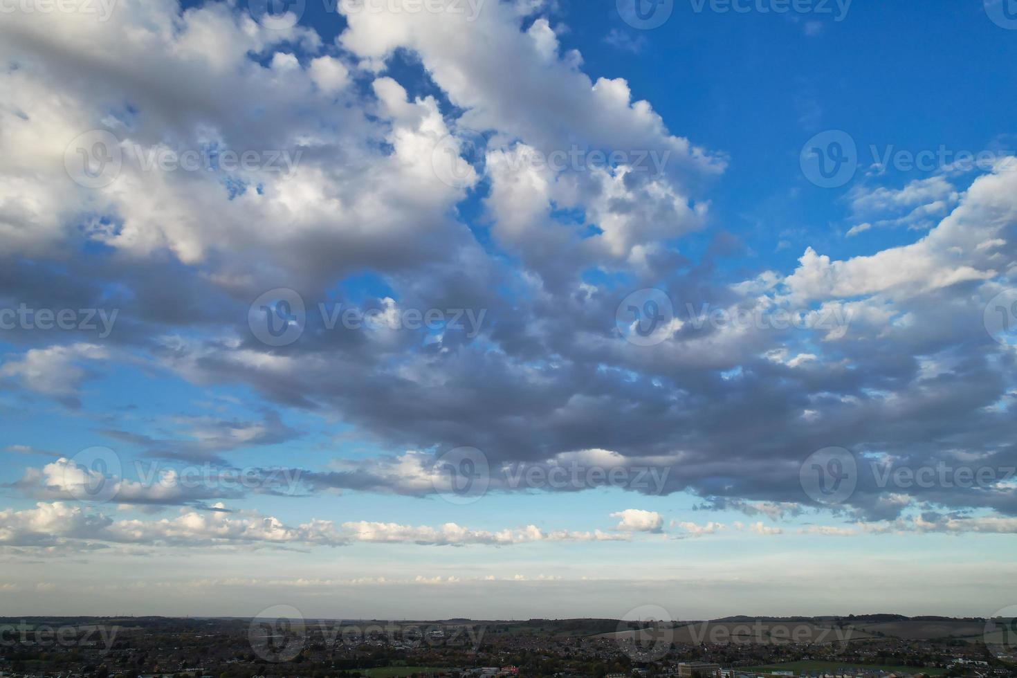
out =
<svg viewBox="0 0 1017 678"><path fill-rule="evenodd" d="M547 169L590 172L624 168L625 172L659 176L670 160L670 150L604 150L573 144L569 148L540 150L529 146L492 147L481 134L469 130L446 134L431 150L431 168L442 183L453 188L472 186L484 174L518 175L526 170Z"/></svg>

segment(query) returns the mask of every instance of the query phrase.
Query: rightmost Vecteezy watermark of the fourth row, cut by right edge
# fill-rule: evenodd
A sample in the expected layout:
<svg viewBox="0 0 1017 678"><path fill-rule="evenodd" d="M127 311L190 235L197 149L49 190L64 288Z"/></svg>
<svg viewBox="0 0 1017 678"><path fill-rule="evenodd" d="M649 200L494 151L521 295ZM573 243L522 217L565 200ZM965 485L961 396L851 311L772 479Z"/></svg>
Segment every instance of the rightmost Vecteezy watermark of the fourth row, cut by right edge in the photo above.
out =
<svg viewBox="0 0 1017 678"><path fill-rule="evenodd" d="M881 490L980 489L1007 485L1017 476L1017 467L954 465L943 460L920 465L900 465L895 460L865 459L859 465L843 447L824 447L813 452L799 469L801 489L823 504L840 504L851 497L862 478L871 477L871 487Z"/></svg>

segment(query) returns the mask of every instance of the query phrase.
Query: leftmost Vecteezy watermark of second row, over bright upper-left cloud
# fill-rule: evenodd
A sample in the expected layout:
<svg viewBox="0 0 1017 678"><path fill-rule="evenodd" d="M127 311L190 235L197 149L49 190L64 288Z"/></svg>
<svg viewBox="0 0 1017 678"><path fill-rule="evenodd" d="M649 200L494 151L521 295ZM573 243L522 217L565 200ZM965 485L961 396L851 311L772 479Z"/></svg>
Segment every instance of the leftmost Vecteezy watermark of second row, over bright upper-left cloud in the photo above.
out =
<svg viewBox="0 0 1017 678"><path fill-rule="evenodd" d="M93 129L74 137L64 149L67 176L85 188L109 186L128 162L140 172L257 172L290 178L296 173L303 150L226 148L207 144L200 148L144 146L121 141L105 129Z"/></svg>

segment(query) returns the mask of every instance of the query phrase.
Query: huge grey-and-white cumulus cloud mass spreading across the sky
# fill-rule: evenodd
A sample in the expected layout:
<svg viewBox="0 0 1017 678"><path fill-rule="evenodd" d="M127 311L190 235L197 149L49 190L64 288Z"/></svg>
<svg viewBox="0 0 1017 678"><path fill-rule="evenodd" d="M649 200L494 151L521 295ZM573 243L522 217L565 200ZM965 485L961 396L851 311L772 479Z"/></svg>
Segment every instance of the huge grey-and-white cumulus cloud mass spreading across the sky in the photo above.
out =
<svg viewBox="0 0 1017 678"><path fill-rule="evenodd" d="M360 12L327 45L218 2L125 0L106 22L7 17L0 57L17 67L0 73L4 302L122 310L101 346L74 332L11 334L4 385L77 407L97 368L129 363L341 420L383 450L316 469L316 491L429 494L440 488L436 457L472 445L495 490L512 489L506 467L575 461L631 478L657 469L624 487L730 500L774 519L815 507L800 466L832 444L903 463L975 454L1013 466L999 441L1012 437L1001 404L1014 357L981 311L1012 285L1017 173L859 190L850 206L865 224L913 217L928 231L870 254L813 245L790 270L721 274L733 238L718 235L702 261L675 241L709 226L708 186L726 158L668 129L623 79L588 74L544 10L489 2L473 22ZM386 70L400 54L418 60L413 73ZM113 134L108 150L123 161L98 189L63 167L88 130ZM519 162L573 144L626 155L582 169ZM152 153L187 148L285 151L295 164L146 167ZM436 149L452 151L459 181L435 172ZM637 167L644 152L648 171ZM490 238L457 211L468 197ZM351 300L344 284L364 271L385 291ZM310 312L298 342L270 347L252 335L249 307L283 285ZM659 344L637 347L617 314L629 288L644 287L666 290L674 317ZM328 327L315 313L351 301L483 309L487 320L468 336ZM778 311L807 322L752 320ZM723 322L732 317L752 321ZM929 361L943 369L931 373ZM189 460L297 435L268 414L182 416L164 427L174 436L115 424L104 433L145 455ZM844 510L895 519L931 501L1017 514L1006 486L915 488L905 502L884 494L859 478Z"/></svg>

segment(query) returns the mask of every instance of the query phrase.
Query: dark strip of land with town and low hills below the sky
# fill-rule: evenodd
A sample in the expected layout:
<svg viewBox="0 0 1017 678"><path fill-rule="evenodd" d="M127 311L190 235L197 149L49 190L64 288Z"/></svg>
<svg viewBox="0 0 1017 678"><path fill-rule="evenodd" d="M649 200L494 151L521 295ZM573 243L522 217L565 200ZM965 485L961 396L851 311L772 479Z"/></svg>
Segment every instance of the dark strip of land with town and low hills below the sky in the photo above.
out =
<svg viewBox="0 0 1017 678"><path fill-rule="evenodd" d="M0 678L1017 677L1012 619L0 618Z"/></svg>

